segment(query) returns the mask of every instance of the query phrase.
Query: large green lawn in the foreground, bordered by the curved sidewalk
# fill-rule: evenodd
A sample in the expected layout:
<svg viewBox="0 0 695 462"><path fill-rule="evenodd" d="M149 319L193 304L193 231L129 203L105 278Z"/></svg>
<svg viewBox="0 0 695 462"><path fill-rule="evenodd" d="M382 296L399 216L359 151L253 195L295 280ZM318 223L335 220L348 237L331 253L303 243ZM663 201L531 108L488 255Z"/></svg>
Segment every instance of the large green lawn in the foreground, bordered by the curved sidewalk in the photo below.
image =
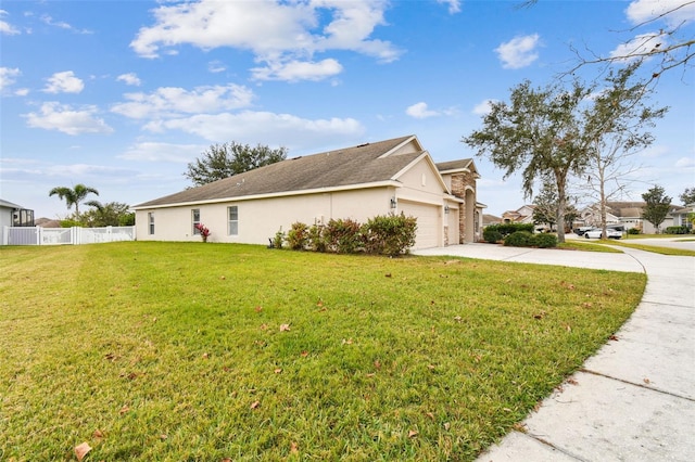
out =
<svg viewBox="0 0 695 462"><path fill-rule="evenodd" d="M0 268L9 461L470 461L646 283L203 243L0 247Z"/></svg>

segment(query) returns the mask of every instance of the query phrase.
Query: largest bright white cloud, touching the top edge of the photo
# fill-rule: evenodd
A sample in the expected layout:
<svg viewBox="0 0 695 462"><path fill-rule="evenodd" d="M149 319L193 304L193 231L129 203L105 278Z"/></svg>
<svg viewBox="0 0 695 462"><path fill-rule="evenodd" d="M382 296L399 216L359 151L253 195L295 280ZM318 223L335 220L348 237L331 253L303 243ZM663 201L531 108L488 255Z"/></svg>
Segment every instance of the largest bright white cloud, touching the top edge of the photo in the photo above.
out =
<svg viewBox="0 0 695 462"><path fill-rule="evenodd" d="M266 64L253 69L261 79L317 80L333 76L342 66L333 59L316 63L316 52L350 50L382 62L400 56L391 42L370 38L377 26L386 24L386 8L382 0L162 4L153 10L155 24L142 27L130 47L144 57L156 57L180 44L238 48L250 50L256 62ZM321 25L320 17L329 17L328 24Z"/></svg>

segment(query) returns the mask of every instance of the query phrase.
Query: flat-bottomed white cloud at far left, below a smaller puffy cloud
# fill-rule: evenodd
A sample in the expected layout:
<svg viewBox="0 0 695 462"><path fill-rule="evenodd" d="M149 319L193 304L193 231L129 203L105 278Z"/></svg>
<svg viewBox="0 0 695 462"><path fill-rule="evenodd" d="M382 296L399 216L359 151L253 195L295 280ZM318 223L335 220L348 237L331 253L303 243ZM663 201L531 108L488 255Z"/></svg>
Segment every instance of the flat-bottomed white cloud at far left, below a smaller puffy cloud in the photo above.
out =
<svg viewBox="0 0 695 462"><path fill-rule="evenodd" d="M25 114L27 125L46 130L58 130L67 134L111 133L113 129L97 117L96 106L73 110L67 104L48 102L41 105L40 113Z"/></svg>

